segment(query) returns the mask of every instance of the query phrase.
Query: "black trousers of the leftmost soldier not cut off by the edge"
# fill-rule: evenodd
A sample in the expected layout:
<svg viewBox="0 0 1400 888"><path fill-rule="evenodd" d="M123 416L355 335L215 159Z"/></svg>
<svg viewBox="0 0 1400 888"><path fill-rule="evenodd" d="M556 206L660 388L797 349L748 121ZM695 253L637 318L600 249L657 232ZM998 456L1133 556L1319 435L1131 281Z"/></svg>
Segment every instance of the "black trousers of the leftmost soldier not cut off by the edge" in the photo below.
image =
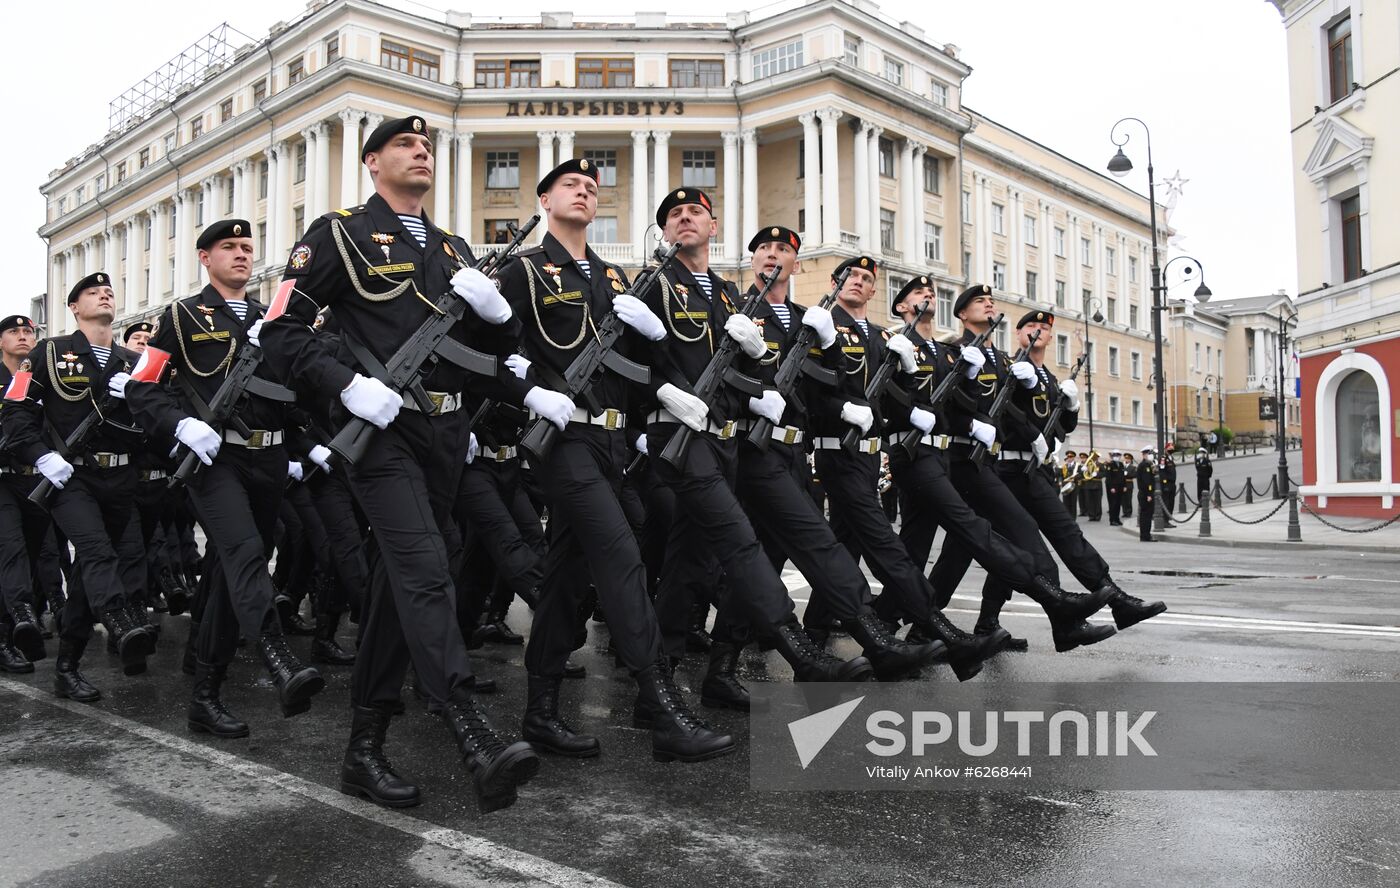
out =
<svg viewBox="0 0 1400 888"><path fill-rule="evenodd" d="M98 615L144 598L146 553L127 534L134 511L136 469L76 466L55 492L49 514L73 543L73 581L62 636L85 641Z"/></svg>

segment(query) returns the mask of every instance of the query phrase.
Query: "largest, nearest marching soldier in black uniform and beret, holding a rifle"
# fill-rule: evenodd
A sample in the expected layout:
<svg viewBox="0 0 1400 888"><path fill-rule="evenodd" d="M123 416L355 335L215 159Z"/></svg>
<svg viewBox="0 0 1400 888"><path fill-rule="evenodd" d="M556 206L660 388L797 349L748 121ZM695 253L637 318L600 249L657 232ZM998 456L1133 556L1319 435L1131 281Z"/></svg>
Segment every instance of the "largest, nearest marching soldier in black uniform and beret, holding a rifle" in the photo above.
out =
<svg viewBox="0 0 1400 888"><path fill-rule="evenodd" d="M287 314L263 331L265 360L277 377L329 402L337 424L356 416L381 429L350 468L377 549L368 611L361 613L340 789L391 807L419 803L419 789L400 779L384 754L412 660L483 810L496 810L514 804L515 787L538 772L539 758L528 744L507 744L479 709L456 629L448 552L456 536L452 500L470 440L463 394L484 377L469 378L449 361L437 363L423 381L434 405L424 413L379 375L444 294L455 293L469 305L451 332L462 345L508 354L519 322L496 284L465 268L473 261L466 242L423 210L435 167L423 118L385 120L365 139L360 160L374 193L363 206L312 221L287 262L283 286L294 287ZM335 349L312 329L326 307L333 307L340 326Z"/></svg>

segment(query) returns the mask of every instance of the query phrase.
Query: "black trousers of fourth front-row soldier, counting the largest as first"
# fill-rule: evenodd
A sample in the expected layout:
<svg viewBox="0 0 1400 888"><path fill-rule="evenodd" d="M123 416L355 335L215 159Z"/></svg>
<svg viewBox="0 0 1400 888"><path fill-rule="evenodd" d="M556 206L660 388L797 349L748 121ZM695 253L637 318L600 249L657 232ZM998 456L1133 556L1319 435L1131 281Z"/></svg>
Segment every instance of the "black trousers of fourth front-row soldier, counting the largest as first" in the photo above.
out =
<svg viewBox="0 0 1400 888"><path fill-rule="evenodd" d="M739 501L770 563L781 577L791 560L833 618L855 619L871 609L869 581L808 493L806 475L801 447L739 443Z"/></svg>

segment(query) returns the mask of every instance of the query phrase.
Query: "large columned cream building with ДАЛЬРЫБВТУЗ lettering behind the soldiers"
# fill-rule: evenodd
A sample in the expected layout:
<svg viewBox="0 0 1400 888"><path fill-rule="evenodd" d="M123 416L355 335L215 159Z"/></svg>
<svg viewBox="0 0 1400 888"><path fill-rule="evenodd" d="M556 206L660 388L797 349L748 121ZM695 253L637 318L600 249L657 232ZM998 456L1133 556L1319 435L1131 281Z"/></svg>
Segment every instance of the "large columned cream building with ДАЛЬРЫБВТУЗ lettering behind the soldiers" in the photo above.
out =
<svg viewBox="0 0 1400 888"><path fill-rule="evenodd" d="M958 46L868 0L685 20L434 20L332 0L235 43L220 29L125 92L109 132L43 185L55 331L71 282L98 268L123 321L196 291L193 244L218 217L253 223L266 294L308 220L368 196L365 134L413 111L435 139L430 216L480 249L535 210L533 183L561 158L598 165L591 241L629 268L655 244L659 196L703 188L727 275L748 276L759 226L802 233L804 301L861 251L883 269L872 317L930 275L951 333L956 291L991 283L1012 317L1057 308L1061 368L1088 307L1103 317L1089 331L1095 443L1152 438L1145 197L963 106Z"/></svg>

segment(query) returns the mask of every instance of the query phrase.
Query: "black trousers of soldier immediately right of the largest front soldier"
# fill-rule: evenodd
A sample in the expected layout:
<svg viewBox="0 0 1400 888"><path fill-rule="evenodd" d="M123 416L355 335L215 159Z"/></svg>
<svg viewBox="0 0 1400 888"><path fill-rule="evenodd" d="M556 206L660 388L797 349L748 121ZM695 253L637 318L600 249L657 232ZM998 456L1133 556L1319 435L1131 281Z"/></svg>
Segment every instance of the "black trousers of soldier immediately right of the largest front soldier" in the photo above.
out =
<svg viewBox="0 0 1400 888"><path fill-rule="evenodd" d="M564 674L589 580L617 655L638 671L661 655L661 629L647 598L637 535L619 503L627 440L622 431L571 424L533 465L549 503L549 550L539 605L525 647L532 675Z"/></svg>

